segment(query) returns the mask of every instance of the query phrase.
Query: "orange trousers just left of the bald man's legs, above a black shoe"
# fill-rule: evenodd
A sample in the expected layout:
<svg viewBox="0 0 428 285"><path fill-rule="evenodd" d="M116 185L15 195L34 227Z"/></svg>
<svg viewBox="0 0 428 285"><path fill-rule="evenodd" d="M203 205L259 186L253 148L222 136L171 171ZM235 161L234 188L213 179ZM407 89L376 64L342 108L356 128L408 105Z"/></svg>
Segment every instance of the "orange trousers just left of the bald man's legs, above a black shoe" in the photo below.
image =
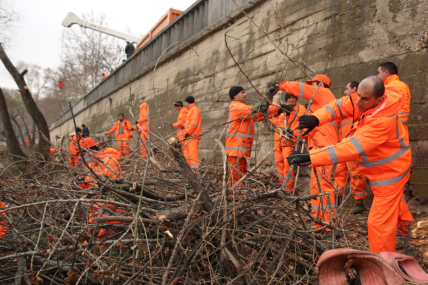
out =
<svg viewBox="0 0 428 285"><path fill-rule="evenodd" d="M334 172L334 186L339 190L339 196L343 196L345 185L351 182L352 176L352 194L355 200L367 197L366 176L361 174L360 168L355 161L339 163Z"/></svg>

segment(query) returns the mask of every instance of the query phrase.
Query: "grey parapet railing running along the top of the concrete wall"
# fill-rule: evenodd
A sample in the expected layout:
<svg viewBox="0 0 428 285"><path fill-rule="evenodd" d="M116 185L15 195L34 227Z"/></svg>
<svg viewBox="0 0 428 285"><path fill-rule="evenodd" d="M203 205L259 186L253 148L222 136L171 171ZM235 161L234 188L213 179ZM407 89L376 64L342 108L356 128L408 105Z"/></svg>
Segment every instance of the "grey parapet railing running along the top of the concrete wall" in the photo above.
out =
<svg viewBox="0 0 428 285"><path fill-rule="evenodd" d="M248 0L235 0L239 6L244 6ZM138 74L147 66L155 62L169 45L177 41L187 41L197 33L216 24L231 12L238 9L232 0L198 0L174 21L169 23L157 36L137 50L127 61L101 81L92 91L73 106L74 114L79 113L87 106L115 91L116 88L129 81L129 74ZM146 53L134 65L138 56ZM134 65L134 68L132 67ZM71 112L65 112L49 126L54 129L71 118Z"/></svg>

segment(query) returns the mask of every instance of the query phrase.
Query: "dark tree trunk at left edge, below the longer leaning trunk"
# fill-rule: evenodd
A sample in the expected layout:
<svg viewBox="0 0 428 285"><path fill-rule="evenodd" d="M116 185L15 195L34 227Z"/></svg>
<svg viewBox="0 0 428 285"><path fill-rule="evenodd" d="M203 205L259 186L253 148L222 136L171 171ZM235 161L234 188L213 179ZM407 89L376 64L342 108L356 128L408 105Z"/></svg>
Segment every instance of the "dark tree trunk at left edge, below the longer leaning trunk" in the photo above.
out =
<svg viewBox="0 0 428 285"><path fill-rule="evenodd" d="M6 138L7 149L10 154L15 156L27 157L19 147L18 139L10 122L9 112L7 111L6 100L4 99L3 91L0 88L0 121L3 123L3 135ZM17 157L12 157L13 161L19 160Z"/></svg>

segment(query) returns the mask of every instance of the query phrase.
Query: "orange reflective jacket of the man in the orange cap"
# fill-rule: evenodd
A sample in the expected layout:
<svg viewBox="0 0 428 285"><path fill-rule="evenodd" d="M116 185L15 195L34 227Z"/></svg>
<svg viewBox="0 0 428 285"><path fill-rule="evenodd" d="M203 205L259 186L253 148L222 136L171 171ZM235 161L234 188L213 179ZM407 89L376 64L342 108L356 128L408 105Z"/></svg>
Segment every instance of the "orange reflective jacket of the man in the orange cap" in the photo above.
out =
<svg viewBox="0 0 428 285"><path fill-rule="evenodd" d="M312 98L312 95L316 89L316 86L312 86L303 82L287 80L279 83L278 87L282 91L293 94L296 97L303 97L308 100ZM335 100L336 97L334 97L329 88L318 88L317 94L315 94L312 105L310 106L309 115ZM339 141L336 122L329 121L323 126L316 127L312 132L309 133L309 138L312 138L308 141L309 148L336 144Z"/></svg>

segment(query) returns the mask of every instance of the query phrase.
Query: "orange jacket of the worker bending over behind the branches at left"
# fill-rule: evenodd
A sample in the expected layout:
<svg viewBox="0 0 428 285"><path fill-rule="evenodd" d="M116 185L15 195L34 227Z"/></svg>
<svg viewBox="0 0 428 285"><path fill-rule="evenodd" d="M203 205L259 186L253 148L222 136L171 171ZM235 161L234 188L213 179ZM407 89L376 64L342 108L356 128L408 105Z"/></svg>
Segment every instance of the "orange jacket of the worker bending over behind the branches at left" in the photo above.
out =
<svg viewBox="0 0 428 285"><path fill-rule="evenodd" d="M107 176L110 178L119 178L119 176L116 175L116 173L122 172L122 167L120 167L118 159L120 157L120 153L115 150L112 147L106 147L102 150L99 150L98 152L91 153L93 156L98 157L103 161L108 167L110 167L112 170L110 170L108 167L103 165L101 162L99 162L97 159L93 159L91 162L88 163L88 166L94 170L95 174L98 174L99 176ZM115 174L113 174L115 173ZM112 175L113 174L113 175ZM89 176L85 177L85 181L92 180ZM94 183L87 183L87 184L81 184L82 188L95 186Z"/></svg>

